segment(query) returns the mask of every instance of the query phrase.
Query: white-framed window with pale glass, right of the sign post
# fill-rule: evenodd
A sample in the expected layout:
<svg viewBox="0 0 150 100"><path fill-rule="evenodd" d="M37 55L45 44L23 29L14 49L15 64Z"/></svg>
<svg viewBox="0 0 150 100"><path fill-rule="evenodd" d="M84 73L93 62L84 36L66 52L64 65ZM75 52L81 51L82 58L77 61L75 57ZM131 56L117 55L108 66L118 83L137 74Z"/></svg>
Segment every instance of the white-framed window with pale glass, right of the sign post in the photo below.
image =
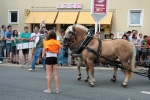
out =
<svg viewBox="0 0 150 100"><path fill-rule="evenodd" d="M144 10L129 10L128 11L128 26L143 26Z"/></svg>

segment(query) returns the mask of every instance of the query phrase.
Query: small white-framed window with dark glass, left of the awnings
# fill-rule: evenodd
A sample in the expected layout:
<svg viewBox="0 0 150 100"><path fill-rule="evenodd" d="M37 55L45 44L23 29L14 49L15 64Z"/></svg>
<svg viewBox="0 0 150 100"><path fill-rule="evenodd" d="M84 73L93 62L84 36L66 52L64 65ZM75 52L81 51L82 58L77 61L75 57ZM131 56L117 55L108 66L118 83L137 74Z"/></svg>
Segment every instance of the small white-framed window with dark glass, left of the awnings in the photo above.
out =
<svg viewBox="0 0 150 100"><path fill-rule="evenodd" d="M8 24L19 24L19 11L8 11Z"/></svg>

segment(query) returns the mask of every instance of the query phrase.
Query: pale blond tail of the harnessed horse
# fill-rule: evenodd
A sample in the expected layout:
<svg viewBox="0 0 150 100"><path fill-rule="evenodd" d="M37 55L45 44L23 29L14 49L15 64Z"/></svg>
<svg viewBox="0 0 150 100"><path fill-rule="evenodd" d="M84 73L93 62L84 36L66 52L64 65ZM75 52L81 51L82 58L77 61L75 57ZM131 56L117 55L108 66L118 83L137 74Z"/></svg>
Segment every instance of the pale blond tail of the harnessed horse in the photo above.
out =
<svg viewBox="0 0 150 100"><path fill-rule="evenodd" d="M131 43L131 45L132 45L132 50L133 50L132 56L131 56L131 58L130 58L130 67L131 67L131 71L134 71L134 68L135 68L136 49L135 49L135 45L134 45L132 42L130 42L130 43ZM130 77L130 79L133 79L134 73L133 73L133 72L130 72L129 77Z"/></svg>

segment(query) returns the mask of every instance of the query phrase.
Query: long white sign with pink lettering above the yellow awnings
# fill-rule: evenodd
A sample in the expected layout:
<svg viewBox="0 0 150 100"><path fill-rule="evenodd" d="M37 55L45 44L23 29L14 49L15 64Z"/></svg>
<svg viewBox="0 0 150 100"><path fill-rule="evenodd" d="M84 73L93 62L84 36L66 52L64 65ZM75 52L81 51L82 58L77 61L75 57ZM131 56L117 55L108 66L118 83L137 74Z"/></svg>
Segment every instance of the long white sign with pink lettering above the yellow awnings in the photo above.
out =
<svg viewBox="0 0 150 100"><path fill-rule="evenodd" d="M82 8L82 4L77 3L77 4L57 4L57 8Z"/></svg>

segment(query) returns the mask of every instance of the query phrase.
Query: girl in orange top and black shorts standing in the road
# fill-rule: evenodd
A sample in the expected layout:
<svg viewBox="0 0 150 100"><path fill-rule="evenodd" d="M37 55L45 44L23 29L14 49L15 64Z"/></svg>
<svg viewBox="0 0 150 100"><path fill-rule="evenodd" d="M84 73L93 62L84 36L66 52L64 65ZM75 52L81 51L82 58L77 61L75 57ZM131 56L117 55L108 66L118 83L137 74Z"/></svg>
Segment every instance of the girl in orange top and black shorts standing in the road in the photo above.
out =
<svg viewBox="0 0 150 100"><path fill-rule="evenodd" d="M51 74L53 73L55 79L56 89L55 93L59 93L59 81L57 76L57 54L61 53L60 42L56 40L55 31L50 31L44 41L44 48L42 58L46 56L46 74L48 89L44 93L51 93Z"/></svg>

